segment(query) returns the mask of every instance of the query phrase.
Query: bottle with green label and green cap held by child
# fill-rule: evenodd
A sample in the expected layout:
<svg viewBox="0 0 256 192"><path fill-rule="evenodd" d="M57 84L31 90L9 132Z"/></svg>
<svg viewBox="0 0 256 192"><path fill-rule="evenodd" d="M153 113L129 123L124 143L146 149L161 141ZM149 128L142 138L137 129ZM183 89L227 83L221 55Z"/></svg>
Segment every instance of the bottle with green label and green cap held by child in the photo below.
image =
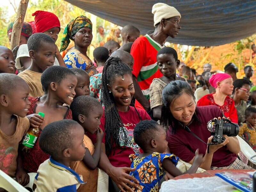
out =
<svg viewBox="0 0 256 192"><path fill-rule="evenodd" d="M39 112L38 115L40 115L41 117L44 118L45 114L42 112ZM25 150L26 152L28 152L31 148L34 147L36 139L38 138L39 135L39 127L37 128L29 128L28 132L26 133L22 144L24 145L24 148L22 150Z"/></svg>

